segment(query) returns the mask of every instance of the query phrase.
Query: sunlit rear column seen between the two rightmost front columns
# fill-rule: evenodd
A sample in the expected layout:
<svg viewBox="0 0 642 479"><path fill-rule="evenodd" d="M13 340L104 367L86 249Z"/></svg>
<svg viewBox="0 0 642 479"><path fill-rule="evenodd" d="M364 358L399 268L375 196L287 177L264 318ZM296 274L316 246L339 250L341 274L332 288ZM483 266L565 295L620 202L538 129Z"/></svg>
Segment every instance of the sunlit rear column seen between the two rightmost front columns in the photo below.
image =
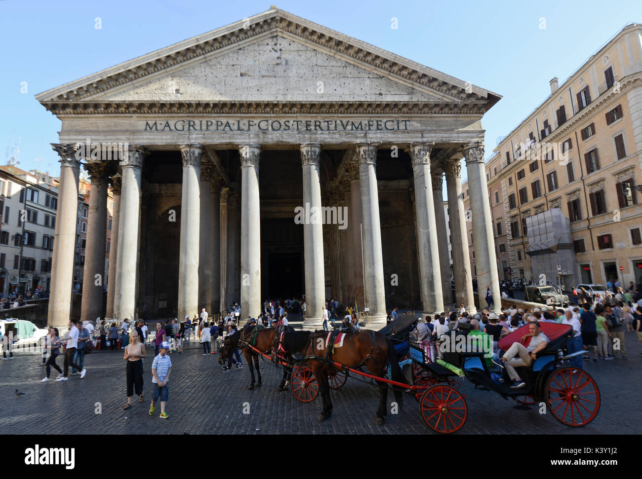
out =
<svg viewBox="0 0 642 479"><path fill-rule="evenodd" d="M447 162L446 186L448 189L448 210L450 212L450 239L453 247L453 273L455 276L455 301L463 304L467 312L476 312L473 296L471 258L468 255L468 239L462 198L460 160Z"/></svg>

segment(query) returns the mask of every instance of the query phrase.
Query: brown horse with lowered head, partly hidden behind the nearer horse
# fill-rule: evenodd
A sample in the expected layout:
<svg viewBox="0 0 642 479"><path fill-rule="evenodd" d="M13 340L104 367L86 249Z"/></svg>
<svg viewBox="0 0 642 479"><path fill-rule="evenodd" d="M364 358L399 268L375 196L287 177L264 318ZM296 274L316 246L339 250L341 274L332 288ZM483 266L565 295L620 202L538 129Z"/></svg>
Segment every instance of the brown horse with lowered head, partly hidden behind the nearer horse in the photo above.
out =
<svg viewBox="0 0 642 479"><path fill-rule="evenodd" d="M259 355L250 348L248 344L251 344L259 351L269 353L274 338L274 328L261 328L255 337L253 333L255 327L256 326L245 326L233 335L225 337L223 347L221 348L221 355L218 358L218 364L225 364L227 357L234 353L234 349L240 348L243 351L243 356L245 356L245 360L250 367L250 376L252 376L252 381L247 389L254 389L254 367L256 367L256 374L258 375L256 387L261 386L262 380L261 371L259 370ZM254 362L254 364L252 364L252 362ZM277 391L284 391L286 389L288 382L290 382L291 373L291 367L284 367L281 384L277 387Z"/></svg>

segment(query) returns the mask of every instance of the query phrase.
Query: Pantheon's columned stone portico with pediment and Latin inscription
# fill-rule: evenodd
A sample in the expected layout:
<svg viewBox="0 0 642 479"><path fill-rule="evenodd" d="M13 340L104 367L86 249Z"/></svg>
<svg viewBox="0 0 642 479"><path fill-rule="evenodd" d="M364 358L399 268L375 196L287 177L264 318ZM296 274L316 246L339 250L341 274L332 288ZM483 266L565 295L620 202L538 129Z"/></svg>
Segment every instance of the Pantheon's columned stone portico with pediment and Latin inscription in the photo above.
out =
<svg viewBox="0 0 642 479"><path fill-rule="evenodd" d="M82 319L101 314L107 185L108 318L234 301L244 318L302 295L305 328L320 327L326 298L368 308L371 328L386 307L472 311L462 158L478 285L499 298L481 123L499 98L277 9L39 94L62 121L49 323L71 311L81 162L93 245ZM345 223L295 222L315 206L345 208Z"/></svg>

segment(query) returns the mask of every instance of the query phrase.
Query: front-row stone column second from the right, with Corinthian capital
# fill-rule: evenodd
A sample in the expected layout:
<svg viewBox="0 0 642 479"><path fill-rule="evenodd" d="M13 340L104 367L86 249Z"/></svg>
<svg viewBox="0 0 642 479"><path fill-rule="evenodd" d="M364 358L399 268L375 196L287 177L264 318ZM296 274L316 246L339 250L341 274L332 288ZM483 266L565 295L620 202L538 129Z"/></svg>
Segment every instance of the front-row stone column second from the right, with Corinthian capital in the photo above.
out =
<svg viewBox="0 0 642 479"><path fill-rule="evenodd" d="M425 314L444 310L442 284L439 271L439 244L433 202L433 185L430 178L430 144L410 147L415 184L415 209L417 212L417 242L419 244L419 279L421 299Z"/></svg>

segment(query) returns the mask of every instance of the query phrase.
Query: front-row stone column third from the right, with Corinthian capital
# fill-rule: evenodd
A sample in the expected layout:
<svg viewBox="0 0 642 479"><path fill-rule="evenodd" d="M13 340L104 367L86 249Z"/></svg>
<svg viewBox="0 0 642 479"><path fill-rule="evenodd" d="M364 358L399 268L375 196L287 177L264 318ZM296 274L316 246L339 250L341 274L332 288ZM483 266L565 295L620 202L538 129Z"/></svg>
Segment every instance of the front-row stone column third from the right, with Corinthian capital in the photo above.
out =
<svg viewBox="0 0 642 479"><path fill-rule="evenodd" d="M361 182L361 235L363 241L363 286L365 305L369 308L369 327L379 329L386 324L386 293L383 286L383 251L377 189L377 149L358 144L359 178Z"/></svg>

